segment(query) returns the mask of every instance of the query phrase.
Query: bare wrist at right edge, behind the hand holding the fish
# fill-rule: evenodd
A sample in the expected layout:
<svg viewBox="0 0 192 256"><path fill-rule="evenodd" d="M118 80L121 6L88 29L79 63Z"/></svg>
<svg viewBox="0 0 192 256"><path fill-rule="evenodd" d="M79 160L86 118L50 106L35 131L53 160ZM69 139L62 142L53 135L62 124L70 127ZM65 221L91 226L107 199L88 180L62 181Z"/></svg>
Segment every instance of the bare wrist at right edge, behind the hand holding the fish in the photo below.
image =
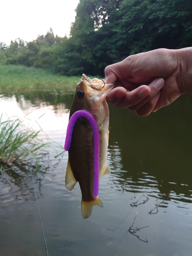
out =
<svg viewBox="0 0 192 256"><path fill-rule="evenodd" d="M175 50L180 77L178 86L182 94L192 94L192 47Z"/></svg>

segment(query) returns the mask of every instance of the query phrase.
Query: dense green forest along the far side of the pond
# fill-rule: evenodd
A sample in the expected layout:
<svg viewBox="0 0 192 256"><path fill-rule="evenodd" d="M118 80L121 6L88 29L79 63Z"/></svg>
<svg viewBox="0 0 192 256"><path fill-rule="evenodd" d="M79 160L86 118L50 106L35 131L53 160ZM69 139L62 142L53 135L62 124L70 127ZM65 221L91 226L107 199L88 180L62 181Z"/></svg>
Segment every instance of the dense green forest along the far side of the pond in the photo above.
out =
<svg viewBox="0 0 192 256"><path fill-rule="evenodd" d="M61 75L102 75L130 54L192 46L191 0L80 0L70 36L53 30L30 42L0 43L0 65Z"/></svg>

